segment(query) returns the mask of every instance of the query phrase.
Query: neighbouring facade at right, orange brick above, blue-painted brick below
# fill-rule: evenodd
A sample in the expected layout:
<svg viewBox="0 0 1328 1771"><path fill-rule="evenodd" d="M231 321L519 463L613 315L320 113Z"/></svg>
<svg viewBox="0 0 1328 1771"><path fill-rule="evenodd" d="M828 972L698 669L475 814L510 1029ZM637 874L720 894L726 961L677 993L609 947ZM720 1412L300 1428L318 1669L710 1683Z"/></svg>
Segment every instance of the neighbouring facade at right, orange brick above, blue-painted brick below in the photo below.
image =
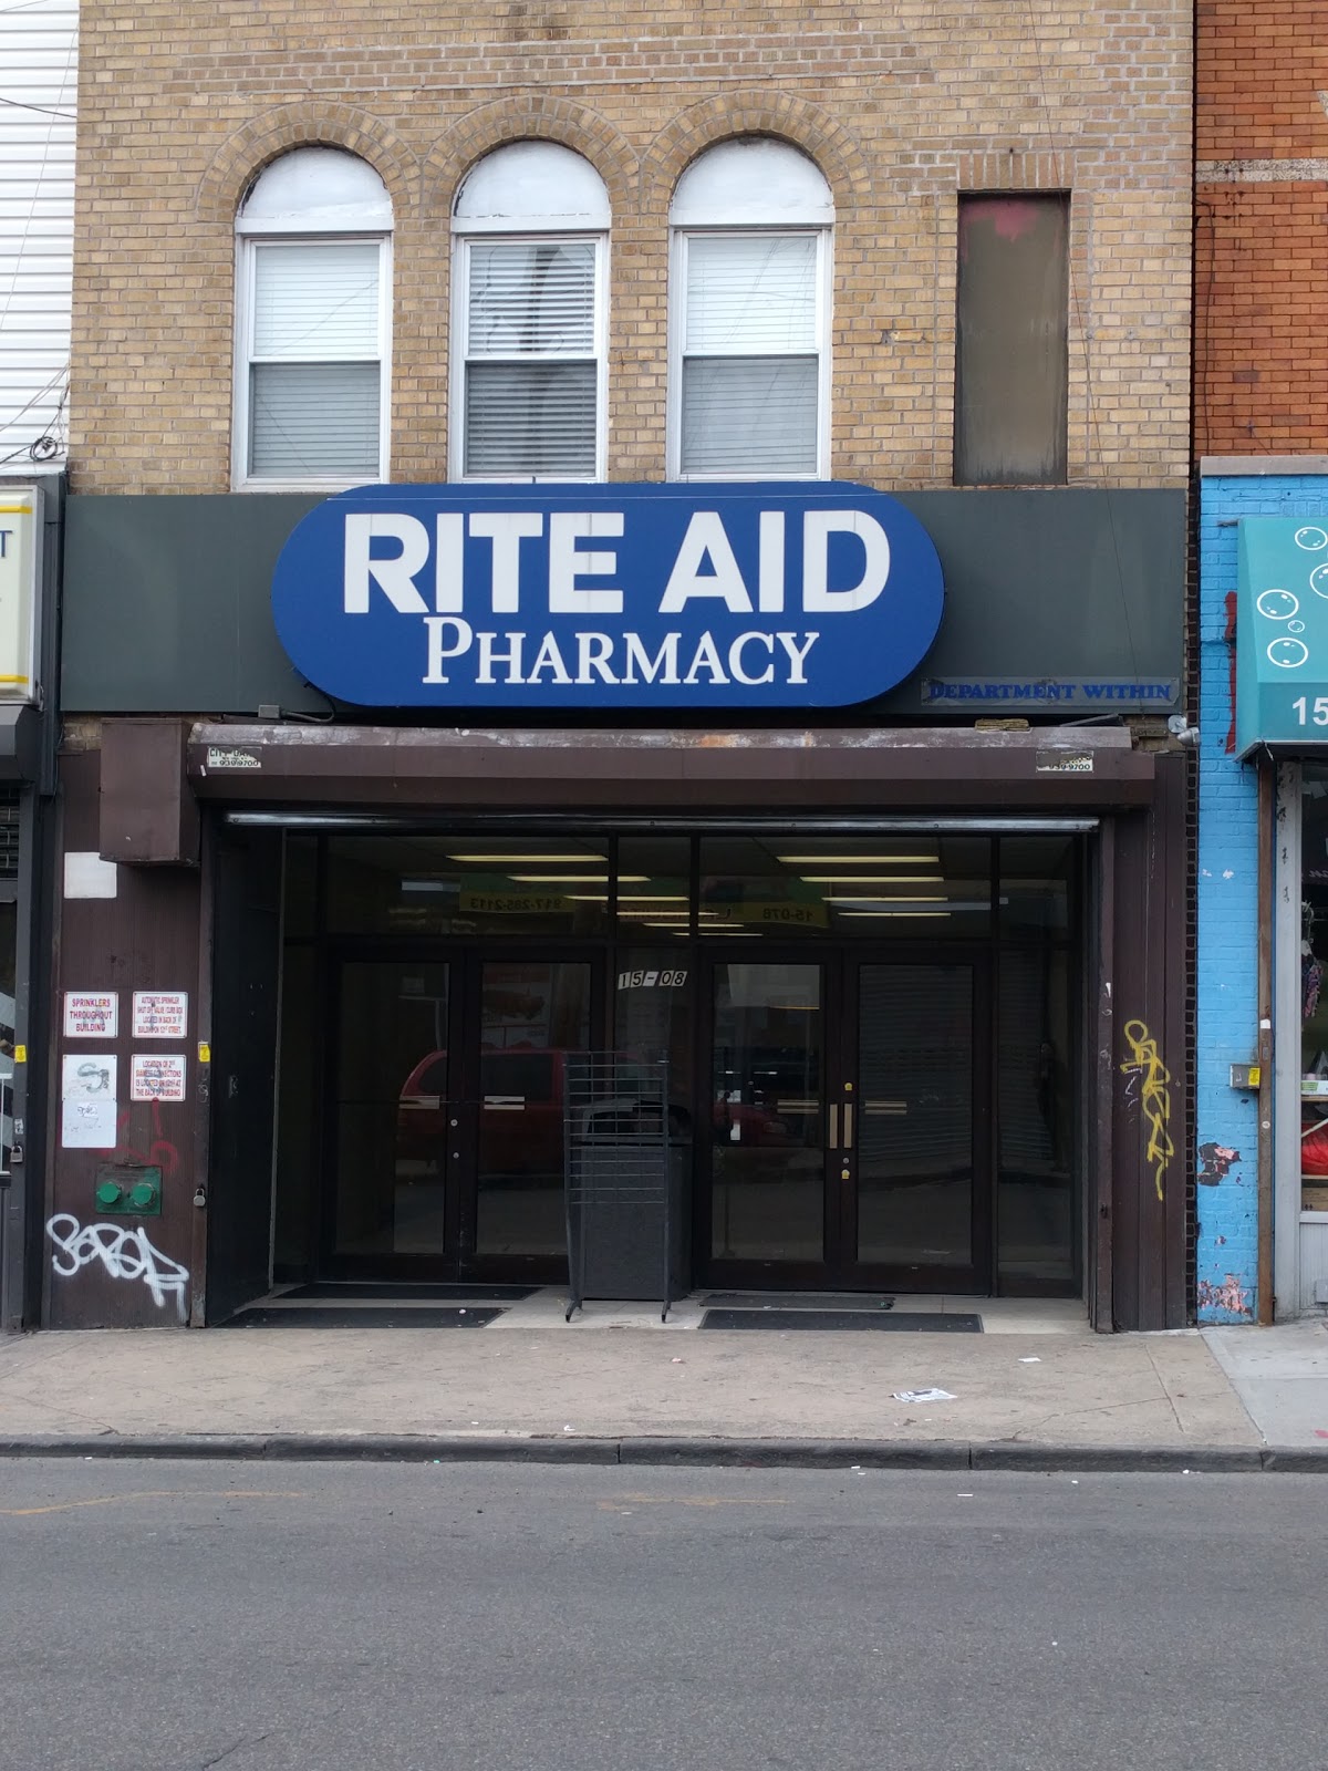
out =
<svg viewBox="0 0 1328 1771"><path fill-rule="evenodd" d="M1229 1075L1232 1063L1250 1063L1259 1038L1261 861L1255 767L1227 751L1229 599L1239 519L1323 521L1328 514L1321 476L1328 437L1326 18L1317 0L1277 7L1218 0L1201 4L1195 23L1195 455L1208 457L1199 560L1201 1321L1248 1319L1271 1303L1255 1284L1259 1118L1254 1096L1234 1091ZM1278 457L1266 475L1257 471L1261 457ZM1314 459L1298 471L1296 457ZM1275 951L1278 992L1286 967L1298 963L1296 953ZM1296 1064L1300 1025L1275 1015L1273 1045L1278 1066ZM1284 1133L1264 1135L1280 1141ZM1286 1199L1298 1197L1294 1179L1284 1187L1286 1179L1275 1165L1278 1203L1270 1229L1280 1318L1312 1307L1303 1275L1300 1284L1294 1277L1303 1231L1286 1210Z"/></svg>

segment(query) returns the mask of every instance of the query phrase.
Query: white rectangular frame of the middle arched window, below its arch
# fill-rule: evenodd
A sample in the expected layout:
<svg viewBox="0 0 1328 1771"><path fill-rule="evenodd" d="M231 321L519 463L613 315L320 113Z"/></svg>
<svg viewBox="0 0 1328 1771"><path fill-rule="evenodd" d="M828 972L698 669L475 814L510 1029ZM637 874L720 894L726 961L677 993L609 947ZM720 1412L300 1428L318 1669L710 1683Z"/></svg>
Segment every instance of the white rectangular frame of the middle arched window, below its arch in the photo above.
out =
<svg viewBox="0 0 1328 1771"><path fill-rule="evenodd" d="M499 230L483 221L453 223L452 257L452 374L448 377L452 397L448 400L448 448L450 480L464 480L475 485L597 485L609 476L609 236L593 228L528 228L524 232ZM581 244L595 248L595 305L591 317L591 347L595 354L595 471L590 475L494 475L466 473L466 370L469 365L469 328L471 328L471 246L503 244ZM554 352L522 352L512 358L480 358L487 363L563 363L570 361Z"/></svg>

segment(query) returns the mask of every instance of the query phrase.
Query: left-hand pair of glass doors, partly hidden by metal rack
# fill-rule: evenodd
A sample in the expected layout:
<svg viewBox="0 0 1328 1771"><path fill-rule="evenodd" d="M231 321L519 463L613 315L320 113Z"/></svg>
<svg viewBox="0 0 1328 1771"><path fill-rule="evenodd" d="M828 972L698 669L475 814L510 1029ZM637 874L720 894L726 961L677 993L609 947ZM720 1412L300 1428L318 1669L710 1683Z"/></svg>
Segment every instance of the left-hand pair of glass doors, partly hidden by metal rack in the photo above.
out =
<svg viewBox="0 0 1328 1771"><path fill-rule="evenodd" d="M591 1043L591 960L336 963L336 1277L558 1277L563 1057Z"/></svg>

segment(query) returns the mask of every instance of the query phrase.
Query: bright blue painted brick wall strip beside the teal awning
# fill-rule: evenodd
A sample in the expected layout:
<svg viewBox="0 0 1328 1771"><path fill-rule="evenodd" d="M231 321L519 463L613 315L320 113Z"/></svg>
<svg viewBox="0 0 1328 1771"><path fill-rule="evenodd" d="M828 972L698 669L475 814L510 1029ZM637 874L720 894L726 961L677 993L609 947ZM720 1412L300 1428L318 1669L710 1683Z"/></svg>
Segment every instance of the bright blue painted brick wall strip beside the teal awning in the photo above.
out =
<svg viewBox="0 0 1328 1771"><path fill-rule="evenodd" d="M1248 1064L1259 1043L1257 790L1254 769L1227 751L1227 597L1236 592L1239 517L1328 517L1328 480L1232 475L1202 478L1199 489L1195 1266L1204 1323L1250 1321L1259 1307L1257 1102L1232 1089L1229 1073Z"/></svg>

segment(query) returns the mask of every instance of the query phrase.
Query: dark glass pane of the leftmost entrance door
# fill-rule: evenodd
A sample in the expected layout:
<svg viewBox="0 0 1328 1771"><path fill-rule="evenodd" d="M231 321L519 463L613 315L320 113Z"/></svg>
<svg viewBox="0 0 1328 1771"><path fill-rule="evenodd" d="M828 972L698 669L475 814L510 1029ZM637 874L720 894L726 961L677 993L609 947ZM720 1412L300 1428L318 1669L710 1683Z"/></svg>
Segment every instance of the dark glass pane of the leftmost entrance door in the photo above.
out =
<svg viewBox="0 0 1328 1771"><path fill-rule="evenodd" d="M336 1256L441 1254L446 965L345 960L336 992Z"/></svg>

